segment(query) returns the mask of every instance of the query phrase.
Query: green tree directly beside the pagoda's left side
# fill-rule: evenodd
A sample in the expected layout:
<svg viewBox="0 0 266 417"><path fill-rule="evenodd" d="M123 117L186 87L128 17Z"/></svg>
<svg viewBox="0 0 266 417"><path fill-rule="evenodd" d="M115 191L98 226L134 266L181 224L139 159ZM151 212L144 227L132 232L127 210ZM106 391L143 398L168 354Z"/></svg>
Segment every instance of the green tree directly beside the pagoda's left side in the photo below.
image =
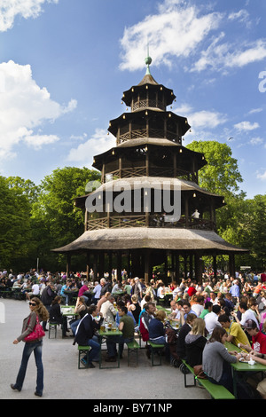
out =
<svg viewBox="0 0 266 417"><path fill-rule="evenodd" d="M54 255L51 249L66 245L84 231L84 212L74 207L74 198L84 195L86 184L94 180L100 180L98 171L74 167L55 169L44 177L32 212L35 256L44 269L65 268L65 256Z"/></svg>

